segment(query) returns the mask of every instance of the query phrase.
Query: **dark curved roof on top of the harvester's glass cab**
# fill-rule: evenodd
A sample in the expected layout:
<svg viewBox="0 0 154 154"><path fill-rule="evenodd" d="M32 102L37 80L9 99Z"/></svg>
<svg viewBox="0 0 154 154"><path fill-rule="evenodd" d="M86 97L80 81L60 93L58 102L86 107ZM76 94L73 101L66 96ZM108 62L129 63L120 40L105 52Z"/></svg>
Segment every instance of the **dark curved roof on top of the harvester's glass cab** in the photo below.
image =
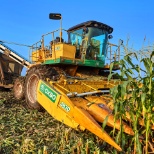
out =
<svg viewBox="0 0 154 154"><path fill-rule="evenodd" d="M86 22L83 22L83 23L78 24L76 26L73 26L73 27L69 28L67 31L71 32L71 31L74 31L74 30L77 30L77 29L80 29L83 27L96 27L96 28L99 28L102 30L106 30L109 34L111 34L113 32L112 27L110 27L106 24L103 24L101 22L94 21L94 20L86 21Z"/></svg>

